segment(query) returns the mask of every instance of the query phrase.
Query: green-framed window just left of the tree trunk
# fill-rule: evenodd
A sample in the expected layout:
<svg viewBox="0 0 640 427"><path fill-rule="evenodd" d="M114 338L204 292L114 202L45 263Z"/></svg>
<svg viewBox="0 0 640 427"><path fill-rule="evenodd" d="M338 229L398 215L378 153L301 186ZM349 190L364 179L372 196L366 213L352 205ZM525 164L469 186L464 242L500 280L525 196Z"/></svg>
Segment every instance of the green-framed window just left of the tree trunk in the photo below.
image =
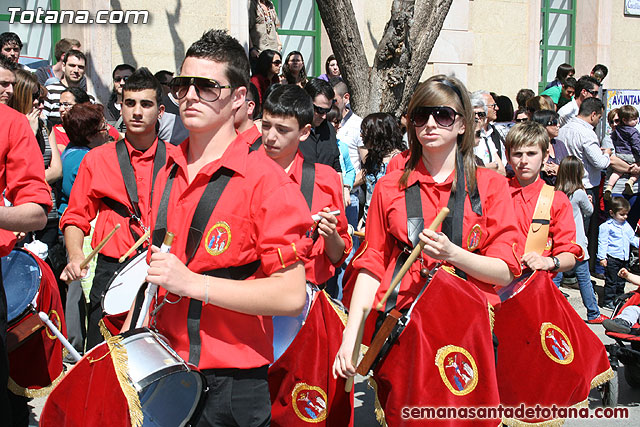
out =
<svg viewBox="0 0 640 427"><path fill-rule="evenodd" d="M320 12L314 0L274 0L280 19L280 41L282 60L291 51L297 50L304 57L308 75L322 74L320 58Z"/></svg>

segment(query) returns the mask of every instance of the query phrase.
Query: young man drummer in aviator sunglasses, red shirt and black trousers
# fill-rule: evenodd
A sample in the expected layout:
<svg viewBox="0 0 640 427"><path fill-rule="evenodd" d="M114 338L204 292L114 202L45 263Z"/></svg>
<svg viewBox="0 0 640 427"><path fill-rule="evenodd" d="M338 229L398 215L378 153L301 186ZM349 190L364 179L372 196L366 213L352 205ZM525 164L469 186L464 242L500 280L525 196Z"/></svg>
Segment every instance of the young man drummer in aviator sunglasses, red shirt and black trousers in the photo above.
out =
<svg viewBox="0 0 640 427"><path fill-rule="evenodd" d="M248 85L237 40L210 30L191 45L170 85L189 138L154 193L154 243L164 230L176 235L171 253L153 249L150 259L158 301L175 302L154 321L207 378L202 425L269 425L271 316L298 315L306 298L311 213L299 186L236 133Z"/></svg>

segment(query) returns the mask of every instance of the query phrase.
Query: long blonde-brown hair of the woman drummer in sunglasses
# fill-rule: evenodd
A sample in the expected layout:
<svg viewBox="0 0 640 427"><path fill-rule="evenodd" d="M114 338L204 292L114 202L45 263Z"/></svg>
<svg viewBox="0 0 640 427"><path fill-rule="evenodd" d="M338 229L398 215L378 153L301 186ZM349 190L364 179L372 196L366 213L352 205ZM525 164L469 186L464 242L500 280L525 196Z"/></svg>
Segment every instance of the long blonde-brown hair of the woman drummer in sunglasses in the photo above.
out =
<svg viewBox="0 0 640 427"><path fill-rule="evenodd" d="M473 135L475 123L473 120L473 108L471 108L471 101L469 100L469 92L460 80L453 76L445 76L444 74L432 76L420 83L409 102L407 111L407 116L409 117L407 121L407 135L409 137L410 155L404 167L404 173L400 177L400 188L407 186L409 175L415 170L418 162L422 158L422 144L420 144L416 136L416 129L411 120L412 113L418 107L435 107L438 105L452 106L462 115L465 131L462 135L458 135L456 153L459 152L462 155L467 180L467 191L474 191L476 189L476 162L473 154L473 147L475 145ZM456 169L458 167L460 167L460 165L458 165L456 156ZM451 191L455 191L455 188L454 179L454 185L451 187Z"/></svg>

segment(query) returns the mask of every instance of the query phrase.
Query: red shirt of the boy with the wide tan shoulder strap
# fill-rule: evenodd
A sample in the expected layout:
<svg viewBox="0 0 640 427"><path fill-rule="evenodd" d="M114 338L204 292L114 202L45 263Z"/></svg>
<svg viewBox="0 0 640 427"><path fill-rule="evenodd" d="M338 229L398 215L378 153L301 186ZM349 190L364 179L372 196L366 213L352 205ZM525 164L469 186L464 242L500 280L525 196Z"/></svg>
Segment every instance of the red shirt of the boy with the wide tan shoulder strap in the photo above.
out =
<svg viewBox="0 0 640 427"><path fill-rule="evenodd" d="M529 234L529 227L543 185L544 181L540 178L526 187L520 186L515 177L509 180L509 191L518 218L518 232L525 240ZM524 255L524 240L518 249L518 255ZM573 220L571 202L562 191L556 191L551 203L549 239L542 255L555 256L562 252L570 252L579 260L584 256L582 248L576 243L576 223Z"/></svg>

